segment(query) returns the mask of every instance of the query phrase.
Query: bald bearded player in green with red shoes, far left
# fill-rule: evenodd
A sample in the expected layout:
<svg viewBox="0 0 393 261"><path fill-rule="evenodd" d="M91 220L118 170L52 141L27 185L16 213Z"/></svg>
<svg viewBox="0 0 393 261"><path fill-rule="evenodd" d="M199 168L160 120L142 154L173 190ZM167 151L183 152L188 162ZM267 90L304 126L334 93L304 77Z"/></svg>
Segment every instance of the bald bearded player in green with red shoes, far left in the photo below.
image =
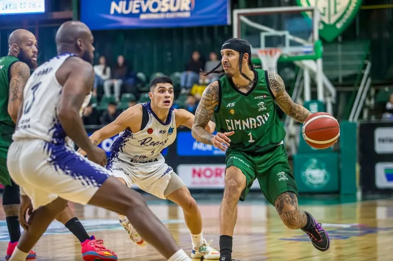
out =
<svg viewBox="0 0 393 261"><path fill-rule="evenodd" d="M12 134L15 131L24 85L30 77L30 70L37 68L38 54L37 40L27 30L18 29L12 32L8 44L8 55L0 57L0 183L5 186L3 209L6 213L10 236L6 251L7 260L14 252L20 238L19 221L23 227L26 227L26 219L23 214L30 208L30 199L27 196L22 196L22 205L20 205L19 186L11 180L7 169L7 152L12 142ZM22 214L19 218L18 212ZM82 223L69 208L59 214L57 220L62 222L79 239L82 245L82 254L90 253L102 260L117 260L116 255L106 249L100 243L101 241L97 242L94 237L90 238ZM102 256L101 254L104 252L109 254ZM36 253L32 250L27 259L35 257ZM83 258L87 257L84 255Z"/></svg>

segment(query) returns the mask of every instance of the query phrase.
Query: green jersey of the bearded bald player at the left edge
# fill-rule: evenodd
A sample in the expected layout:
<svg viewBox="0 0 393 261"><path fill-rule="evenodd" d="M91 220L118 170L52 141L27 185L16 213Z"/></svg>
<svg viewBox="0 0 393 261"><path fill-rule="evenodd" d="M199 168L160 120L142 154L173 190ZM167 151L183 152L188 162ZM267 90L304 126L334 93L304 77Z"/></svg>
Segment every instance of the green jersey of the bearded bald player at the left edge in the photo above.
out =
<svg viewBox="0 0 393 261"><path fill-rule="evenodd" d="M8 114L8 96L11 80L11 66L19 60L15 56L7 55L0 58L0 123L14 126Z"/></svg>

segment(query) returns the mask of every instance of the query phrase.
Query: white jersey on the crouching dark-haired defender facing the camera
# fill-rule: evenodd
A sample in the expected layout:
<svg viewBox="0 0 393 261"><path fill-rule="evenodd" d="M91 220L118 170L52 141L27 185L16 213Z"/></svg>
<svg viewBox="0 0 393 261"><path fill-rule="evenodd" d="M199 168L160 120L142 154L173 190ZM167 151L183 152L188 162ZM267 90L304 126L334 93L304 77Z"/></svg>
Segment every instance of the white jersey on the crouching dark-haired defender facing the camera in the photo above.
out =
<svg viewBox="0 0 393 261"><path fill-rule="evenodd" d="M111 147L109 160L119 159L124 162L149 162L162 157L163 149L176 139L175 110L169 109L165 123L161 122L153 112L150 102L142 104L148 111L149 121L138 132L130 129L120 132Z"/></svg>

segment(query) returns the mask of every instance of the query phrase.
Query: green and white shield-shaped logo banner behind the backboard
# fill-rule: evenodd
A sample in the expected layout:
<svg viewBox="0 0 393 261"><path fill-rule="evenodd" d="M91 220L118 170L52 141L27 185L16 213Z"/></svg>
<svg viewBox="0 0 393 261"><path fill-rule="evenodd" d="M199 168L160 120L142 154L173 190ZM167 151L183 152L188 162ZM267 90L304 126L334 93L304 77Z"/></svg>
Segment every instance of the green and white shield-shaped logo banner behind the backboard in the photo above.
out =
<svg viewBox="0 0 393 261"><path fill-rule="evenodd" d="M299 6L317 7L321 13L320 36L331 42L346 30L358 13L362 0L296 0ZM306 16L309 14L304 12Z"/></svg>

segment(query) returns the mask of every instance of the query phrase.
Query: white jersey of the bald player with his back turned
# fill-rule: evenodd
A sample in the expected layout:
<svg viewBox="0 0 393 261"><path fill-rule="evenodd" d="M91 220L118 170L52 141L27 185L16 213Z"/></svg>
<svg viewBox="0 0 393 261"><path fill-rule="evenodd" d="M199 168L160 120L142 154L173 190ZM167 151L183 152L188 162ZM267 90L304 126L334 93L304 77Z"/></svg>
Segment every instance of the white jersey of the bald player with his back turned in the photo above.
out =
<svg viewBox="0 0 393 261"><path fill-rule="evenodd" d="M13 139L43 139L71 146L58 118L58 106L63 86L56 79L56 72L64 61L75 54L64 53L42 64L30 76L24 87L22 114ZM90 101L86 96L83 106ZM80 113L82 114L83 108Z"/></svg>

